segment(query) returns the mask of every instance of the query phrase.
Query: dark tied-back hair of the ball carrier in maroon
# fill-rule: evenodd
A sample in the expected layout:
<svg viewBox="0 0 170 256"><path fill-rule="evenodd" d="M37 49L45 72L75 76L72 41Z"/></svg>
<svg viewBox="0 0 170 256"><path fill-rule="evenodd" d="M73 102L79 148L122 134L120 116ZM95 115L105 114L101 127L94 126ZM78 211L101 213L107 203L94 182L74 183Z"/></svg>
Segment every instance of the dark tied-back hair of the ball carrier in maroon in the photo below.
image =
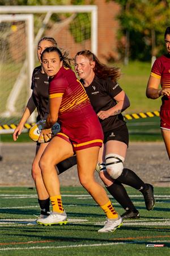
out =
<svg viewBox="0 0 170 256"><path fill-rule="evenodd" d="M73 59L68 57L68 55L69 55L68 52L62 53L57 47L48 47L48 48L45 48L45 50L42 52L41 61L42 61L42 57L45 52L57 52L57 54L59 56L59 60L63 61L63 67L71 69L71 61L73 61Z"/></svg>

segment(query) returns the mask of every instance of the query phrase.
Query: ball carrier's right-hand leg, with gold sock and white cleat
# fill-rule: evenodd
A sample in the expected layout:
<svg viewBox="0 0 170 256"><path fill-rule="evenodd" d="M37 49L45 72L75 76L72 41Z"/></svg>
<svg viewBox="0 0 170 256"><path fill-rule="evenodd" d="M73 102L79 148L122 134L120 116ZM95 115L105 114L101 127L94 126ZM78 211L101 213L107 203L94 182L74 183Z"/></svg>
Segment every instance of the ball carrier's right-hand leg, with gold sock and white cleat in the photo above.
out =
<svg viewBox="0 0 170 256"><path fill-rule="evenodd" d="M99 232L113 232L121 225L122 220L114 210L105 189L95 180L94 172L98 154L99 147L97 146L76 151L78 175L80 183L107 214L107 224Z"/></svg>

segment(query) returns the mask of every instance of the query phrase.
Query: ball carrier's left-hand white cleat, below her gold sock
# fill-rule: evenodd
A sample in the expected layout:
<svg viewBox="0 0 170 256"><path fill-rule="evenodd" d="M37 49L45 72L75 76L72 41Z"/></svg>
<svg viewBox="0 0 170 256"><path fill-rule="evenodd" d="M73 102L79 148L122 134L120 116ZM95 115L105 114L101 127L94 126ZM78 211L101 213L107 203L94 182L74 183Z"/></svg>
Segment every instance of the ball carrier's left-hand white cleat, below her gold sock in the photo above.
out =
<svg viewBox="0 0 170 256"><path fill-rule="evenodd" d="M46 218L40 218L37 220L37 224L50 226L50 225L62 225L67 223L67 214L64 211L63 213L52 212Z"/></svg>

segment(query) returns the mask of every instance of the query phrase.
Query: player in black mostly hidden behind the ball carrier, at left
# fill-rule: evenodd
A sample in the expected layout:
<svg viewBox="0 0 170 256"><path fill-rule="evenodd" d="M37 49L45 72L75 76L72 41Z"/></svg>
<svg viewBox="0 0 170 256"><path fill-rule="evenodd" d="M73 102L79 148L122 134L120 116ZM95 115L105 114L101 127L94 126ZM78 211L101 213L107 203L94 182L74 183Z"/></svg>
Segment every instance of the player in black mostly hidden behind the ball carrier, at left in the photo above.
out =
<svg viewBox="0 0 170 256"><path fill-rule="evenodd" d="M39 41L37 46L37 57L40 63L41 63L41 54L44 51L44 49L52 46L57 46L57 42L56 40L54 40L54 38L44 37ZM28 100L27 106L23 113L23 117L21 118L19 125L16 127L14 131L14 134L13 134L14 141L16 141L16 139L18 139L18 135L22 133L24 123L27 121L27 119L30 117L30 115L35 109L37 109L37 113L38 113L37 121L40 121L40 119L45 119L45 117L49 113L48 88L49 88L48 76L44 73L40 65L39 67L36 67L32 73L32 85L31 85L32 95ZM41 176L41 170L39 167L39 160L46 146L48 146L48 143L41 143L41 144L37 143L36 155L32 163L32 177L33 177L33 180L35 181L38 201L41 209L40 218L46 218L50 212L49 194L46 191L46 188L44 186L44 182ZM76 164L75 156L59 163L57 166L58 168L57 171L61 173L69 169L70 167L74 166L74 164ZM37 224L36 221L33 221L28 225L36 225L36 224Z"/></svg>

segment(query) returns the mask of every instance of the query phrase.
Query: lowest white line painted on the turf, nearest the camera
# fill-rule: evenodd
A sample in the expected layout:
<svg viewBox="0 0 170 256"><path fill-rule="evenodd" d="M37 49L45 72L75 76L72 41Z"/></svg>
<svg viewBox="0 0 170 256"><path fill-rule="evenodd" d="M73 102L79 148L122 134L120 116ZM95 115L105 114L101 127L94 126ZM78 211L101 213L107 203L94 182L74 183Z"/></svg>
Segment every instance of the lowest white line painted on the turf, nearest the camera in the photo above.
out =
<svg viewBox="0 0 170 256"><path fill-rule="evenodd" d="M37 249L63 249L63 248L77 248L77 247L91 247L91 246L108 246L108 245L123 245L131 242L115 242L115 243L94 243L89 245L63 245L63 246L32 246L32 247L7 247L0 249L7 250L37 250Z"/></svg>

